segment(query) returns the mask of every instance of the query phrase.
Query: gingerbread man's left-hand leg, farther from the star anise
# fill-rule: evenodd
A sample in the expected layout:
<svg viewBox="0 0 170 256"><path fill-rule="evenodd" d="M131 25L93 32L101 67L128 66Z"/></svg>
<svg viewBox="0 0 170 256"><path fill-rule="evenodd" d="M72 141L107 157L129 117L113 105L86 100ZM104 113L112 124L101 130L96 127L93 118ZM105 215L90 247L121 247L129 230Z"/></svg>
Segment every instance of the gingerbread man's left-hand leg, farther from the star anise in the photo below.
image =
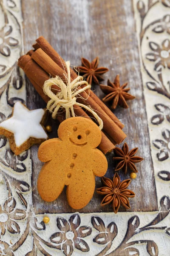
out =
<svg viewBox="0 0 170 256"><path fill-rule="evenodd" d="M37 180L37 189L40 197L44 201L52 202L59 197L64 186L64 172L58 173L54 166L49 166L49 163L45 164L42 167Z"/></svg>

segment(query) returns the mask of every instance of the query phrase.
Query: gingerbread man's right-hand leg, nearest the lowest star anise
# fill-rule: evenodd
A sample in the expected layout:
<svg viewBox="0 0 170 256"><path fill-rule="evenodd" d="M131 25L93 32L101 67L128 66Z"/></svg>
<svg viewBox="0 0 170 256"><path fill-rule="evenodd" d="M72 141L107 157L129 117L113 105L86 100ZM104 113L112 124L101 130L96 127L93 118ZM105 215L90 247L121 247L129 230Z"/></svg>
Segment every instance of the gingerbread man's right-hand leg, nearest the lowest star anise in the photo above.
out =
<svg viewBox="0 0 170 256"><path fill-rule="evenodd" d="M70 185L67 186L67 200L68 204L73 209L81 209L85 207L93 197L95 189L95 176L93 172L90 175L82 171L77 173L76 177L71 180Z"/></svg>

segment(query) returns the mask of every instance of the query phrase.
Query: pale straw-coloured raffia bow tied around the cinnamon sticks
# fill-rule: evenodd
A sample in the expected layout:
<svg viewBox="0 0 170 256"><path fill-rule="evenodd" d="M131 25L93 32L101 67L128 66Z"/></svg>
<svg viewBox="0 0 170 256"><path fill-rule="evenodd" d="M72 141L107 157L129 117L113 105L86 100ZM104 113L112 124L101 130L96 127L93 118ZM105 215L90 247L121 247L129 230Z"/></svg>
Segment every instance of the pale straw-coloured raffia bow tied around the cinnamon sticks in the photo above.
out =
<svg viewBox="0 0 170 256"><path fill-rule="evenodd" d="M53 112L52 118L53 119L56 118L59 108L65 108L66 119L71 116L75 116L73 106L77 105L91 112L93 116L96 118L97 122L99 123L100 130L102 130L103 121L96 114L96 112L94 112L90 106L86 106L84 104L77 102L77 97L79 96L79 94L87 89L90 89L91 85L88 84L87 81L84 81L82 76L78 76L76 79L74 79L74 81L71 82L70 61L66 61L65 64L66 64L67 74L66 75L64 74L64 75L65 75L67 84L65 84L59 76L56 76L54 78L50 78L47 81L45 81L43 85L44 93L50 98L50 100L47 103L47 109ZM57 94L51 91L51 86L54 84L60 88L60 91ZM79 87L82 84L86 84L86 86L79 89Z"/></svg>

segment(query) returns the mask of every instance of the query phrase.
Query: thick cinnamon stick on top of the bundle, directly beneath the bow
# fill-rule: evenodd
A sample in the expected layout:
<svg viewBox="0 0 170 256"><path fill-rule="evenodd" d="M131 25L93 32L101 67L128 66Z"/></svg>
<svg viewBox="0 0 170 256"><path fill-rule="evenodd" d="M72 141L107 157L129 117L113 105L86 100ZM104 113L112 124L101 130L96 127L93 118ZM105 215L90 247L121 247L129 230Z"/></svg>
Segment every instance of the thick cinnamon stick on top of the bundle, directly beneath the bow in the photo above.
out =
<svg viewBox="0 0 170 256"><path fill-rule="evenodd" d="M42 67L48 74L52 76L58 75L63 78L63 70L58 66L41 48L37 49L31 58L37 62L37 64ZM71 79L73 81L73 79ZM55 87L55 86L54 86ZM56 88L58 90L58 88ZM98 114L98 116L103 120L103 129L115 140L116 143L120 144L126 137L126 134L116 125L115 122L103 111L103 109L96 104L94 99L87 95L87 93L82 92L80 95L83 98L79 98L78 102L90 105L91 108Z"/></svg>

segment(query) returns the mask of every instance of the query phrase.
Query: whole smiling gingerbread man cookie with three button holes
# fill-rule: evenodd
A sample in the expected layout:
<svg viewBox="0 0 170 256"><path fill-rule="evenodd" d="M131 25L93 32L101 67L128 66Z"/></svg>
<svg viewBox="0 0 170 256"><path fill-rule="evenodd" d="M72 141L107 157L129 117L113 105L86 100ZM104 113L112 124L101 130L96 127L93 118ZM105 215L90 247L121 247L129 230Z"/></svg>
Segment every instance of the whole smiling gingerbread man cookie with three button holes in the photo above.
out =
<svg viewBox="0 0 170 256"><path fill-rule="evenodd" d="M37 180L38 192L51 202L66 185L68 204L81 209L93 197L95 176L105 175L108 169L105 155L96 148L101 131L90 119L71 117L59 125L58 137L39 147L38 158L45 164Z"/></svg>

